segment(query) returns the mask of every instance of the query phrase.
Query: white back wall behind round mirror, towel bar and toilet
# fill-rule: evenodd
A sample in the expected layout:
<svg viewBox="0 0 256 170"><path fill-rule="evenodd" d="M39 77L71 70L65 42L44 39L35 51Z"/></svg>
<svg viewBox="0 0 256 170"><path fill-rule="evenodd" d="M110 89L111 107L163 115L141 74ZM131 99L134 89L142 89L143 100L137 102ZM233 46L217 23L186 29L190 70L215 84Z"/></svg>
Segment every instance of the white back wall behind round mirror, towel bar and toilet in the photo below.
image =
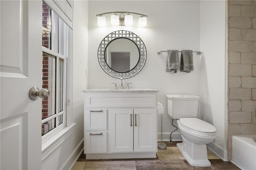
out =
<svg viewBox="0 0 256 170"><path fill-rule="evenodd" d="M194 53L194 71L191 73L166 73L166 53L158 50L200 50L200 2L199 1L89 1L89 76L88 89L112 88L111 83L120 80L107 75L98 63L98 46L102 39L116 30L128 30L137 34L146 45L147 61L138 75L124 79L132 83L131 88L158 89L158 101L163 104L164 138L169 139L171 118L167 115L166 94L199 95L200 57ZM138 28L138 17L134 15L134 26L111 26L110 15L106 15L107 26L98 27L96 14L111 11L130 11L148 15L148 26ZM160 120L159 120L160 121ZM158 122L159 122L158 121ZM176 121L175 121L176 124ZM160 132L160 123L158 123ZM175 138L175 137L173 137ZM176 139L181 139L180 135Z"/></svg>

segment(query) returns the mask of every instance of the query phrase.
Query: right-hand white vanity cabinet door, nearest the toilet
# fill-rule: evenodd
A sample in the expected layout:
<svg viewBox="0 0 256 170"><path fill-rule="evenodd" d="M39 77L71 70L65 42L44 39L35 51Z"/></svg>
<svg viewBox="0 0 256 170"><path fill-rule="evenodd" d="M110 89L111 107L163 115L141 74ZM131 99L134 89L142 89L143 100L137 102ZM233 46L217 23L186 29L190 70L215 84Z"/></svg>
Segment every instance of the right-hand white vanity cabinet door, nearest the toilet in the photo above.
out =
<svg viewBox="0 0 256 170"><path fill-rule="evenodd" d="M134 109L134 152L155 152L156 109Z"/></svg>

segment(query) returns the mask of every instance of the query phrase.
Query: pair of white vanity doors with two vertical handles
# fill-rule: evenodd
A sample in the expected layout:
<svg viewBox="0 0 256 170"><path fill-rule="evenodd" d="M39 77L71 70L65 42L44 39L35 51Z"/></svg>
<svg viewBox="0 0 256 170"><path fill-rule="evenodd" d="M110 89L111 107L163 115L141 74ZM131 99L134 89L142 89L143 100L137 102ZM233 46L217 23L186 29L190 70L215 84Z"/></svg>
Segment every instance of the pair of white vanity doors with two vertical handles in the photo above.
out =
<svg viewBox="0 0 256 170"><path fill-rule="evenodd" d="M111 109L110 152L156 152L156 109Z"/></svg>

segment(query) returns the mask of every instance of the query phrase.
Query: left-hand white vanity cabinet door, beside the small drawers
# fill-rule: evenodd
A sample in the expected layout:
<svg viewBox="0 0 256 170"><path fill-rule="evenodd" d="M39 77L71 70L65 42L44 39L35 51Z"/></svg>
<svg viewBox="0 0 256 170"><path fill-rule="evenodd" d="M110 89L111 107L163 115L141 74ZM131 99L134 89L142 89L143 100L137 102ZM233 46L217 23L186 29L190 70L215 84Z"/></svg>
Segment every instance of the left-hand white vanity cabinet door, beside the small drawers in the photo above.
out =
<svg viewBox="0 0 256 170"><path fill-rule="evenodd" d="M133 152L133 109L110 109L110 152Z"/></svg>

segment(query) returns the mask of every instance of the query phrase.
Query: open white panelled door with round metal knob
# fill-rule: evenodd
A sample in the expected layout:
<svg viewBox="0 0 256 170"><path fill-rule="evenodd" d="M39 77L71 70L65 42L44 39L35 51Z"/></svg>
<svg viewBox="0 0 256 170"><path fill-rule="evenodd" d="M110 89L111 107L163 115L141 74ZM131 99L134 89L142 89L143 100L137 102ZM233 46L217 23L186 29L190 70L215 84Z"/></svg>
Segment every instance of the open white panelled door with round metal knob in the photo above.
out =
<svg viewBox="0 0 256 170"><path fill-rule="evenodd" d="M41 169L42 1L0 0L0 169Z"/></svg>

